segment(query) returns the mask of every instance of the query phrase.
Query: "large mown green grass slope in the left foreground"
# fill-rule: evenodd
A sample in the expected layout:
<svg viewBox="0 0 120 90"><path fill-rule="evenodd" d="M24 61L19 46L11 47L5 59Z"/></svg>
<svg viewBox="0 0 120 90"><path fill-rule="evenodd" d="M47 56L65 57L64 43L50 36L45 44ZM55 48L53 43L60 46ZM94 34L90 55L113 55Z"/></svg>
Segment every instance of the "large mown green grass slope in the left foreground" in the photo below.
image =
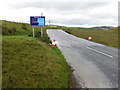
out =
<svg viewBox="0 0 120 90"><path fill-rule="evenodd" d="M57 48L27 35L3 36L3 88L68 88L70 69Z"/></svg>

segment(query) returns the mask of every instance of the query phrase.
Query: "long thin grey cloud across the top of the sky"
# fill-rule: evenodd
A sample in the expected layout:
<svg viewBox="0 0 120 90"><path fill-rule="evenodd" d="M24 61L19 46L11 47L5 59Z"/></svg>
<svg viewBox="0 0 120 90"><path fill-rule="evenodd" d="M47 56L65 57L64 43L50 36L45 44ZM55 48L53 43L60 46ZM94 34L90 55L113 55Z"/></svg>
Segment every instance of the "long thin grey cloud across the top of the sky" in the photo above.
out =
<svg viewBox="0 0 120 90"><path fill-rule="evenodd" d="M19 5L13 5L13 8L45 8L47 10L73 11L81 9L92 9L102 7L108 2L26 2Z"/></svg>

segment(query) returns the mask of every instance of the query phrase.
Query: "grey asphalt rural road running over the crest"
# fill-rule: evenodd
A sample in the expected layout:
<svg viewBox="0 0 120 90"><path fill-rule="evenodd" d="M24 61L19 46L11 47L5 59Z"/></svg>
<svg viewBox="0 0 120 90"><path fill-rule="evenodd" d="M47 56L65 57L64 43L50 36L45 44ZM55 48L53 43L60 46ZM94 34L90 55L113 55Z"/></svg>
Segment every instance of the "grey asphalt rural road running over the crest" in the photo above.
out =
<svg viewBox="0 0 120 90"><path fill-rule="evenodd" d="M61 29L47 29L57 40L78 83L84 88L118 87L118 49L75 37Z"/></svg>

